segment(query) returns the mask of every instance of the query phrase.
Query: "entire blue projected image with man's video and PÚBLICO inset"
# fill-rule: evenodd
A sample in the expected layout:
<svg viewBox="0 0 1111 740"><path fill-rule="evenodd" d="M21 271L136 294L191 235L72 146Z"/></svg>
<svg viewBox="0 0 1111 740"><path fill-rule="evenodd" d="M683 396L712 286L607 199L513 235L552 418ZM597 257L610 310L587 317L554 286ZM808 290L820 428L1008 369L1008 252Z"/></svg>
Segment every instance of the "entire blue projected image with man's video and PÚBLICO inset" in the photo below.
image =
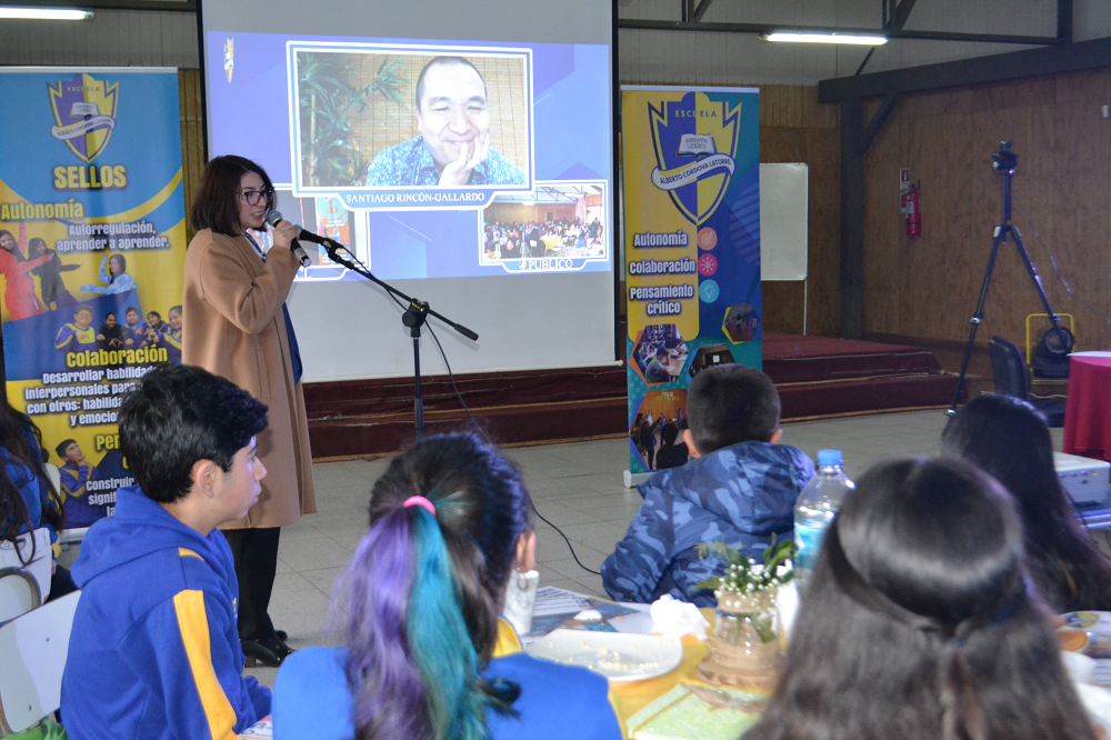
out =
<svg viewBox="0 0 1111 740"><path fill-rule="evenodd" d="M209 31L207 47L224 51L210 154L259 162L288 220L379 278L612 269L605 44ZM298 280L361 279L308 251Z"/></svg>

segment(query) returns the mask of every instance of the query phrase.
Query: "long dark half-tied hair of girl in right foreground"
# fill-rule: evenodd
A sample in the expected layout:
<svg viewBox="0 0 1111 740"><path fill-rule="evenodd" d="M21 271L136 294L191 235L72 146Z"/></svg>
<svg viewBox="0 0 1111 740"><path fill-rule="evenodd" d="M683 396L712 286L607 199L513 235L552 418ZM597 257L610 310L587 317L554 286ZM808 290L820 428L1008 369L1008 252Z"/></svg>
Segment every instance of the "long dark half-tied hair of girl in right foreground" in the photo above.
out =
<svg viewBox="0 0 1111 740"><path fill-rule="evenodd" d="M999 483L958 460L877 466L825 534L744 738L1091 740L1047 617Z"/></svg>

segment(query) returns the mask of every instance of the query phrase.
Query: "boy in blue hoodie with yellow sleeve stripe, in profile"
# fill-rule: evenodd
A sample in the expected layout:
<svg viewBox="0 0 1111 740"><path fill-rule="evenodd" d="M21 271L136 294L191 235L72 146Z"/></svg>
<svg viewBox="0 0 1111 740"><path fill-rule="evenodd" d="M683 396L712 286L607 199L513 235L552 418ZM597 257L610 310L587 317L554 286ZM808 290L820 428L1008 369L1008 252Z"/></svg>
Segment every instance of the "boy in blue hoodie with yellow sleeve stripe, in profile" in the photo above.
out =
<svg viewBox="0 0 1111 740"><path fill-rule="evenodd" d="M73 740L224 740L270 713L270 690L242 676L239 586L217 529L259 498L266 414L190 366L151 370L124 399L120 444L138 486L118 491L72 570L83 592L61 710Z"/></svg>

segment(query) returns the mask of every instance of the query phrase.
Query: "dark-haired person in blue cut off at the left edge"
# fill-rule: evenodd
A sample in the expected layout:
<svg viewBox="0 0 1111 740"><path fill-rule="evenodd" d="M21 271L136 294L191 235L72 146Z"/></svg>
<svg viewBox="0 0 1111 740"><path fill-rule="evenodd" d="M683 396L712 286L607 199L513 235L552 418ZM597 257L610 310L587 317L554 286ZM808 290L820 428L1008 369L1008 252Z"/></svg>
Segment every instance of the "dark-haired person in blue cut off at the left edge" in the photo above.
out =
<svg viewBox="0 0 1111 740"><path fill-rule="evenodd" d="M42 434L30 417L0 393L0 542L16 547L23 563L40 557L53 560L53 553L37 552L33 538L30 547L19 544L19 536L46 527L56 542L63 523L61 498L42 467L41 444ZM69 571L54 562L47 600L76 590Z"/></svg>

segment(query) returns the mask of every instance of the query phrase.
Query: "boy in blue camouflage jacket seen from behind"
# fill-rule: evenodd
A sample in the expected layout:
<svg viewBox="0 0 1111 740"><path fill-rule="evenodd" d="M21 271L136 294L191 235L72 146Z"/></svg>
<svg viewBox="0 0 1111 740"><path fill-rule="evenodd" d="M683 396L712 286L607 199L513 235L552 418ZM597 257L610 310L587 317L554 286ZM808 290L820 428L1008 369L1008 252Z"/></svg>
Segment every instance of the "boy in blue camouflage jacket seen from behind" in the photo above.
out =
<svg viewBox="0 0 1111 740"><path fill-rule="evenodd" d="M683 431L693 459L638 488L644 502L602 563L610 597L650 603L670 593L713 607L713 592L694 584L723 572L724 561L699 558L699 543L720 540L759 561L773 537L794 536L794 501L814 464L777 444L779 413L779 392L759 370L724 364L694 376Z"/></svg>

